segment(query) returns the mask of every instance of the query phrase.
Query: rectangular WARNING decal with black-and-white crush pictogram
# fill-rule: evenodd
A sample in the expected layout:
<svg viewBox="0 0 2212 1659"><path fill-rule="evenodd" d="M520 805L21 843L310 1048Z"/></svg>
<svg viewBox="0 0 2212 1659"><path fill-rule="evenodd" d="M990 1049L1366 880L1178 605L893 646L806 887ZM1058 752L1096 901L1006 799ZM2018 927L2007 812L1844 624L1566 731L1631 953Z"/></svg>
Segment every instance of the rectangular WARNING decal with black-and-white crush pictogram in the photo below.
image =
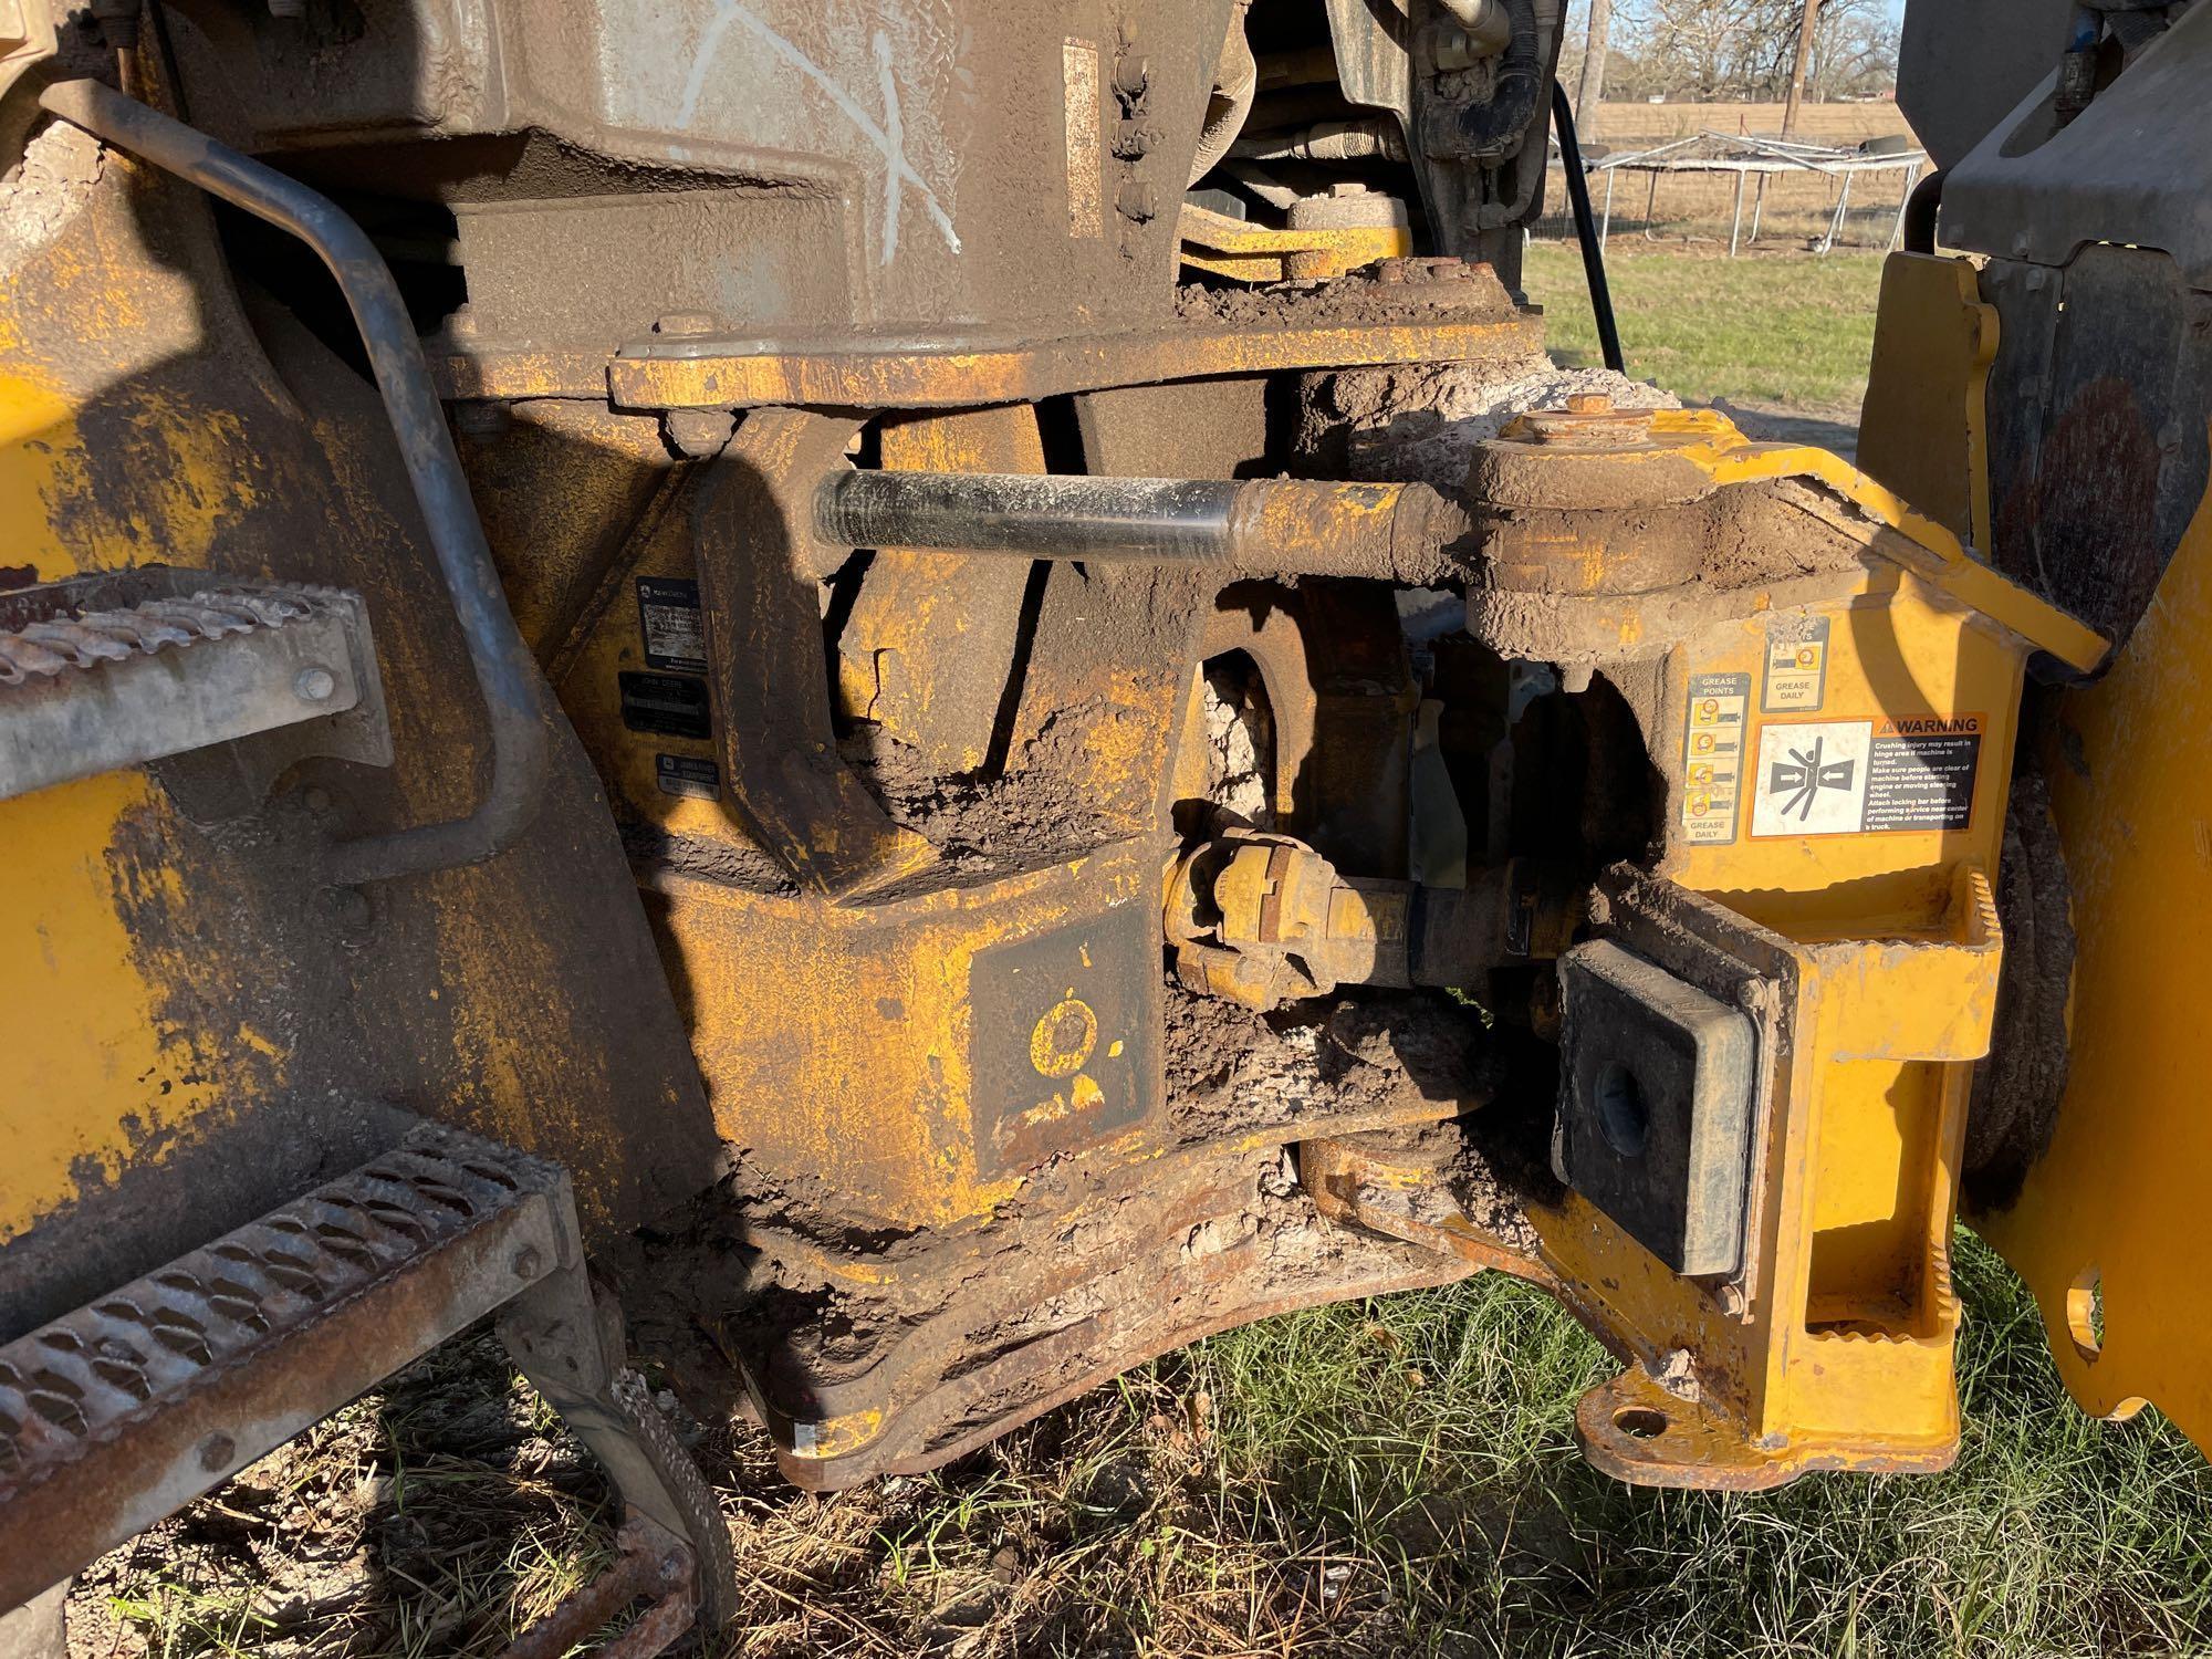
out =
<svg viewBox="0 0 2212 1659"><path fill-rule="evenodd" d="M1966 830L1984 728L1980 714L1761 726L1752 834Z"/></svg>

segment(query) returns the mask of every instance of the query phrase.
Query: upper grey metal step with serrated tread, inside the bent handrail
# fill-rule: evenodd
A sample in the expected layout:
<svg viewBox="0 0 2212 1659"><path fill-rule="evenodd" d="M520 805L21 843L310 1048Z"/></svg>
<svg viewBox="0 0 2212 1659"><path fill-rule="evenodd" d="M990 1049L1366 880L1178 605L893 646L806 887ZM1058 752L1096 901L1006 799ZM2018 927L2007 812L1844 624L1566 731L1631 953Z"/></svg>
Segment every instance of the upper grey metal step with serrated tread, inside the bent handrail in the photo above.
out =
<svg viewBox="0 0 2212 1659"><path fill-rule="evenodd" d="M0 801L310 721L288 757L392 759L356 593L164 566L0 593Z"/></svg>

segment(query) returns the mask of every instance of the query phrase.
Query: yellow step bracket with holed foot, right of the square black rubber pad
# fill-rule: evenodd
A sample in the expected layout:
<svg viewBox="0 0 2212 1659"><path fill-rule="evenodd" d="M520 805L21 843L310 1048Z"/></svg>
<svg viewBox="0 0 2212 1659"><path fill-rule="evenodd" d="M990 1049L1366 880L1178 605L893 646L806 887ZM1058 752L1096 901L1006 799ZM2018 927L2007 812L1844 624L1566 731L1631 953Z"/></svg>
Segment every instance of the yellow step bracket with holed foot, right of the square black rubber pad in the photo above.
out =
<svg viewBox="0 0 2212 1659"><path fill-rule="evenodd" d="M1942 1469L1960 1422L1951 1172L1997 1002L1989 880L1958 869L1936 938L1763 933L1761 951L1781 967L1765 1020L1781 1040L1745 1281L1681 1279L1577 1197L1533 1212L1562 1296L1641 1360L1584 1396L1577 1438L1646 1486Z"/></svg>

